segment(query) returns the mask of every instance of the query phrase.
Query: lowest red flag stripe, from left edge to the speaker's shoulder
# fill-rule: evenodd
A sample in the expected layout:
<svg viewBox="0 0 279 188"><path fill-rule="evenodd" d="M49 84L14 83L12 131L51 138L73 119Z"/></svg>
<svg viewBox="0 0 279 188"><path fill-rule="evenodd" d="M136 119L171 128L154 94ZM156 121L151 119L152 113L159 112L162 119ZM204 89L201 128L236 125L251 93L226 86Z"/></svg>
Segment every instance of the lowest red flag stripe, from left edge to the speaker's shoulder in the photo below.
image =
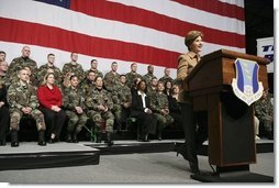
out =
<svg viewBox="0 0 279 188"><path fill-rule="evenodd" d="M170 68L177 67L179 53L176 52L93 37L54 26L4 18L0 18L0 25L4 25L1 29L0 41L78 52L89 56L140 62Z"/></svg>

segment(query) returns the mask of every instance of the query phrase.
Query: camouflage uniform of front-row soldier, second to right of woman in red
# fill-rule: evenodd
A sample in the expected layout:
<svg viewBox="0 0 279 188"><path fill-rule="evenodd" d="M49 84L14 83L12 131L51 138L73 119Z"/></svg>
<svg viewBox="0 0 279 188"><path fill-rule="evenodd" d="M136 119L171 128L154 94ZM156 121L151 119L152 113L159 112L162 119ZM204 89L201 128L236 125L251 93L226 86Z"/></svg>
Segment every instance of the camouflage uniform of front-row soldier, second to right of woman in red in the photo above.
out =
<svg viewBox="0 0 279 188"><path fill-rule="evenodd" d="M107 112L102 112L98 109L98 106L108 107ZM94 88L92 92L86 97L86 107L88 109L88 117L94 122L98 132L101 130L102 121L105 120L105 131L113 132L114 115L111 110L113 109L113 102L109 92L104 89Z"/></svg>

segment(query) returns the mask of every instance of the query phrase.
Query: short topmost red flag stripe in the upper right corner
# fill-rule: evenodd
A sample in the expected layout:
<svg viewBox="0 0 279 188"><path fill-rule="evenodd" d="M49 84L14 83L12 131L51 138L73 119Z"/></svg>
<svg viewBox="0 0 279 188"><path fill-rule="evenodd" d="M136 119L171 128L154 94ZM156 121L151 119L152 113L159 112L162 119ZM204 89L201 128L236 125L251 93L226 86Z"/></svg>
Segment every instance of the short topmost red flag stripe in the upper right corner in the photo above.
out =
<svg viewBox="0 0 279 188"><path fill-rule="evenodd" d="M183 5L245 21L244 9L217 0L172 0Z"/></svg>

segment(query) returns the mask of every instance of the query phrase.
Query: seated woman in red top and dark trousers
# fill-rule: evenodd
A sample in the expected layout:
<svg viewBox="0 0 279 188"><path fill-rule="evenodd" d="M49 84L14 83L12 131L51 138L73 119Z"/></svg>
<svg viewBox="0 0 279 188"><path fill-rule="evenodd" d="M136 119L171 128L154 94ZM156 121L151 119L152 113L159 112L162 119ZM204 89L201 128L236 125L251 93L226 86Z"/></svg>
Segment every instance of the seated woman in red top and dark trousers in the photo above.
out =
<svg viewBox="0 0 279 188"><path fill-rule="evenodd" d="M40 110L45 115L45 122L51 133L49 143L58 141L66 119L66 113L62 109L62 91L54 82L54 74L46 74L44 85L37 89Z"/></svg>

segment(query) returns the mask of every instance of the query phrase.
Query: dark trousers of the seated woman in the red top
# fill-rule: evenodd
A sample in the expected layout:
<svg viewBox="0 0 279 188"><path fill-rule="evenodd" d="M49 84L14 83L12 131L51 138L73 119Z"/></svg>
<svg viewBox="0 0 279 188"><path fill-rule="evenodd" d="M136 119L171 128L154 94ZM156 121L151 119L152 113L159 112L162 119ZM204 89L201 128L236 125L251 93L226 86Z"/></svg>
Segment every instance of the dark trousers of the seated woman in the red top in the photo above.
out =
<svg viewBox="0 0 279 188"><path fill-rule="evenodd" d="M59 112L55 112L43 107L40 107L40 110L44 113L46 128L49 130L49 133L54 133L56 137L59 137L62 126L66 120L65 111L60 110Z"/></svg>

